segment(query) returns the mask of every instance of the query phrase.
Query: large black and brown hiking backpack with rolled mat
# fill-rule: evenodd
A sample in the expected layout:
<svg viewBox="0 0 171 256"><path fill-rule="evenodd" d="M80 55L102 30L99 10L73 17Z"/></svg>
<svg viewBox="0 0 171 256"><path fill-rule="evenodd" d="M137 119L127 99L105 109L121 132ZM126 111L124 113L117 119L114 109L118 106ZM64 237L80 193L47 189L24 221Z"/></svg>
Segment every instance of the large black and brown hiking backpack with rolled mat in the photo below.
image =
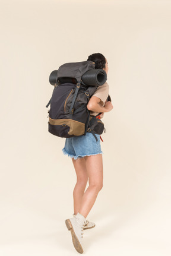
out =
<svg viewBox="0 0 171 256"><path fill-rule="evenodd" d="M106 72L94 67L91 61L66 63L50 74L50 84L55 86L46 106L50 105L48 131L51 134L69 138L85 135L87 130L91 132L89 124L93 118L87 103L97 87L107 80Z"/></svg>

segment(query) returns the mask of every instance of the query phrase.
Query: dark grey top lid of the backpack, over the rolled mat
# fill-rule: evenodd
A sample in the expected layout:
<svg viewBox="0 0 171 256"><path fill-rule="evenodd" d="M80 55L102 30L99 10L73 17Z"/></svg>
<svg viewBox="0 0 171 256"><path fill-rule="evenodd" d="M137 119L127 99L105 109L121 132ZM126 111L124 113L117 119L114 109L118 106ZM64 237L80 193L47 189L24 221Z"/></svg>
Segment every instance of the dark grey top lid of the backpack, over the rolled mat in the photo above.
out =
<svg viewBox="0 0 171 256"><path fill-rule="evenodd" d="M85 72L92 69L95 69L95 63L93 61L65 63L58 69L58 78L75 78L77 83L80 83L81 77L85 74Z"/></svg>

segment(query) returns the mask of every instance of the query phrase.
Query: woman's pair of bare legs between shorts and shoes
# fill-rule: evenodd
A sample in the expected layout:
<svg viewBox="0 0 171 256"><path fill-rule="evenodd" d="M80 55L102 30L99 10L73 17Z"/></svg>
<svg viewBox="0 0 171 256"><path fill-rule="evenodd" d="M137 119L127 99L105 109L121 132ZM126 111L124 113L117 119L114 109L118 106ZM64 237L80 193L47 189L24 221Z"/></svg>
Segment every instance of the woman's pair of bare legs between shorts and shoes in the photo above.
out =
<svg viewBox="0 0 171 256"><path fill-rule="evenodd" d="M79 212L86 218L103 187L102 154L72 159L72 162L77 174L77 183L73 191L74 214ZM85 191L87 180L89 186Z"/></svg>

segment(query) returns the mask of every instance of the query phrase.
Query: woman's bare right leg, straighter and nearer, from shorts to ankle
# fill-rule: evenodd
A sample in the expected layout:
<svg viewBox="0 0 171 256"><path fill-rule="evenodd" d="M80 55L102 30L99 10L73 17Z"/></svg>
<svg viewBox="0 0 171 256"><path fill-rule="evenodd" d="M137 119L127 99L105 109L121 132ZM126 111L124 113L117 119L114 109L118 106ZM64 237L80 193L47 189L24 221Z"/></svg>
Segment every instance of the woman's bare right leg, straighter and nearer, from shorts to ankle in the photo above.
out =
<svg viewBox="0 0 171 256"><path fill-rule="evenodd" d="M81 200L79 213L86 218L96 201L99 191L103 187L103 161L102 154L86 156L84 159L89 186L84 195L81 194L83 197Z"/></svg>

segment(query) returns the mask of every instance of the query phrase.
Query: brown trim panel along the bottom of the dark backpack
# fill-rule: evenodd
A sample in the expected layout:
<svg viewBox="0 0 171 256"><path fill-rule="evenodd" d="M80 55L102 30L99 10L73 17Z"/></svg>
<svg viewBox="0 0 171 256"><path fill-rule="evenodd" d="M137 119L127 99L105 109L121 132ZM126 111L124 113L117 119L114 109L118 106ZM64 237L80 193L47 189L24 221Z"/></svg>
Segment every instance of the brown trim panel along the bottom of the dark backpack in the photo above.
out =
<svg viewBox="0 0 171 256"><path fill-rule="evenodd" d="M52 119L49 118L50 125L68 125L70 127L68 134L80 136L85 132L85 124L72 119Z"/></svg>

